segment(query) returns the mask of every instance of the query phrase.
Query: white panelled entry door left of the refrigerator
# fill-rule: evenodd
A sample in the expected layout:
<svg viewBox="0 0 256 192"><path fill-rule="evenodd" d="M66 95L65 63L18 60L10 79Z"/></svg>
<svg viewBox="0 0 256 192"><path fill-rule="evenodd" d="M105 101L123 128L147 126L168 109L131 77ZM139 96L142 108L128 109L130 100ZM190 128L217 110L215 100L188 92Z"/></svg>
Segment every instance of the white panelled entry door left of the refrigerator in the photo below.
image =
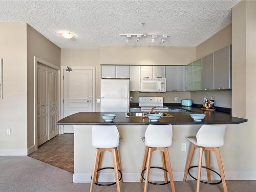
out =
<svg viewBox="0 0 256 192"><path fill-rule="evenodd" d="M93 70L72 69L63 71L63 112L64 117L93 111ZM72 125L64 126L64 133L74 133Z"/></svg>

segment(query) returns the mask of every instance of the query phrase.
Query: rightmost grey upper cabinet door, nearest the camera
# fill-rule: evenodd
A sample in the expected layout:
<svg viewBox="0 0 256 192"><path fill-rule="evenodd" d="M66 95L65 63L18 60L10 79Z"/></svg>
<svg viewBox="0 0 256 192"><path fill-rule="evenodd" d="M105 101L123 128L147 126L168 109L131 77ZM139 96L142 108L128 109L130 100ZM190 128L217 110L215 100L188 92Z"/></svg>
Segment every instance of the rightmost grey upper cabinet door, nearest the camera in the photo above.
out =
<svg viewBox="0 0 256 192"><path fill-rule="evenodd" d="M230 46L214 52L214 89L230 89Z"/></svg>

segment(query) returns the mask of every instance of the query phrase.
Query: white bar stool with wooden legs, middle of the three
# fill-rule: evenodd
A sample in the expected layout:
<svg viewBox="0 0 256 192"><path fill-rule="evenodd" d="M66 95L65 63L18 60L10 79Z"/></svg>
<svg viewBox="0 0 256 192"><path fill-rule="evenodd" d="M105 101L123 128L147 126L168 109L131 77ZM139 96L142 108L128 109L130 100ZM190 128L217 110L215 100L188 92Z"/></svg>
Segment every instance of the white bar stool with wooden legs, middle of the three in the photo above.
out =
<svg viewBox="0 0 256 192"><path fill-rule="evenodd" d="M142 138L142 141L146 145L144 160L141 168L141 178L140 182L143 181L143 174L146 171L146 178L144 184L144 192L147 191L148 183L154 184L153 182L149 182L150 176L150 168L160 168L163 170L167 170L169 174L170 181L167 181L167 174L164 172L164 179L166 183L170 183L172 191L175 192L174 179L172 166L170 165L169 152L168 147L172 145L173 142L173 128L172 125L153 125L150 124L147 126L145 137ZM163 168L162 167L151 167L151 158L152 153L156 150L161 151ZM166 168L167 166L167 168Z"/></svg>

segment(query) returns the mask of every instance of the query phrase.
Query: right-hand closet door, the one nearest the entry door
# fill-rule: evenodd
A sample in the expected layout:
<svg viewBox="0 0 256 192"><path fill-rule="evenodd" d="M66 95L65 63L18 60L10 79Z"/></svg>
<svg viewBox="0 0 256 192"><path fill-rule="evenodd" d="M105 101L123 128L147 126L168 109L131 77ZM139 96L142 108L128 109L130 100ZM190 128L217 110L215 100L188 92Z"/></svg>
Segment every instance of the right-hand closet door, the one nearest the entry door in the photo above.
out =
<svg viewBox="0 0 256 192"><path fill-rule="evenodd" d="M49 68L49 140L58 134L58 71Z"/></svg>

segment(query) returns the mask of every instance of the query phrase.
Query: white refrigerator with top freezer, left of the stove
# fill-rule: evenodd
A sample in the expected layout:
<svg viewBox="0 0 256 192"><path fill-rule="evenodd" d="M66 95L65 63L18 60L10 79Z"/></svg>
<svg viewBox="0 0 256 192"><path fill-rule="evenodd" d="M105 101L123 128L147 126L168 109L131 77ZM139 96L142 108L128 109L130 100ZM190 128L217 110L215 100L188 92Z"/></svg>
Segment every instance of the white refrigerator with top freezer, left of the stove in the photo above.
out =
<svg viewBox="0 0 256 192"><path fill-rule="evenodd" d="M130 79L101 79L100 111L129 112Z"/></svg>

